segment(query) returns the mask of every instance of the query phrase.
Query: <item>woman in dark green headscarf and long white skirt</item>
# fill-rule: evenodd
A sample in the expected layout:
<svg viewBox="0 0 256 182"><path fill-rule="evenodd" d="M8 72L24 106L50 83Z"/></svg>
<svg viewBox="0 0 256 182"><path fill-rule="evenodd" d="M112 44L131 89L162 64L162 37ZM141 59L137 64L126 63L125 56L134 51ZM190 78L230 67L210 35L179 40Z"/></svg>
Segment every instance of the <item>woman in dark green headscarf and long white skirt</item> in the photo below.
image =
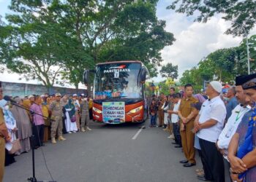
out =
<svg viewBox="0 0 256 182"><path fill-rule="evenodd" d="M66 130L69 133L78 131L78 127L76 124L76 116L75 116L75 105L72 99L69 99L68 103L64 106L66 109L66 119L65 125Z"/></svg>

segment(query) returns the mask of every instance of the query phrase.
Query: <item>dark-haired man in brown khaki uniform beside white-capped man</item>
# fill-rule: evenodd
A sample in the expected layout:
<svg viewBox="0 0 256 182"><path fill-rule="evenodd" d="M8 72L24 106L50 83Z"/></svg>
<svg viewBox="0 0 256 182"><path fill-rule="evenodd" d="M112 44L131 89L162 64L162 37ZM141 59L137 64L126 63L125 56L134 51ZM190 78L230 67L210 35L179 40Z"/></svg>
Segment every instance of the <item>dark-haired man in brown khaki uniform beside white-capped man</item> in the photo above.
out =
<svg viewBox="0 0 256 182"><path fill-rule="evenodd" d="M186 159L180 162L184 164L184 167L192 167L195 165L195 134L192 132L192 129L195 117L197 116L197 110L192 105L197 103L198 100L192 95L192 84L185 85L185 93L186 96L181 99L181 104L178 108L178 116L181 119L181 143L186 157Z"/></svg>

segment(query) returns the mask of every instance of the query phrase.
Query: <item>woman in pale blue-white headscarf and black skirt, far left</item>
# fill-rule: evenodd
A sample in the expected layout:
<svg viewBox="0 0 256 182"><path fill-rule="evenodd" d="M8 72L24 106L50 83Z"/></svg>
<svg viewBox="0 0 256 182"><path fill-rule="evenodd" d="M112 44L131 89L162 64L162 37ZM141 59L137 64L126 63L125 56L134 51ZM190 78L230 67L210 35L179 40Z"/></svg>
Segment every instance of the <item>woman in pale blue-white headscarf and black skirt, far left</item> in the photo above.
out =
<svg viewBox="0 0 256 182"><path fill-rule="evenodd" d="M0 103L1 108L3 109L4 113L4 121L7 126L7 130L9 135L12 136L12 141L16 140L15 132L17 131L17 126L16 126L16 120L12 116L12 113L10 111L10 106L7 104L6 101L1 101ZM7 150L7 145L10 145L10 143L6 143L6 149L5 149L5 166L12 164L13 162L16 162L14 159L15 154L9 154ZM9 149L10 150L10 149Z"/></svg>

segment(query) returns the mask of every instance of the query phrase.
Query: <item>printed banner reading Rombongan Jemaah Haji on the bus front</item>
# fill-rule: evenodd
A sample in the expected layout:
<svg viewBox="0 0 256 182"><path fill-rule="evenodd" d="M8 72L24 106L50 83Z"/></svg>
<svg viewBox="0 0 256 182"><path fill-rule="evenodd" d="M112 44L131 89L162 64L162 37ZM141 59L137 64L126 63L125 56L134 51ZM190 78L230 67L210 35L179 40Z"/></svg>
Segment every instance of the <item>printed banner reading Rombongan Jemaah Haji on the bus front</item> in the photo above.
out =
<svg viewBox="0 0 256 182"><path fill-rule="evenodd" d="M102 119L110 124L125 122L124 102L102 102Z"/></svg>

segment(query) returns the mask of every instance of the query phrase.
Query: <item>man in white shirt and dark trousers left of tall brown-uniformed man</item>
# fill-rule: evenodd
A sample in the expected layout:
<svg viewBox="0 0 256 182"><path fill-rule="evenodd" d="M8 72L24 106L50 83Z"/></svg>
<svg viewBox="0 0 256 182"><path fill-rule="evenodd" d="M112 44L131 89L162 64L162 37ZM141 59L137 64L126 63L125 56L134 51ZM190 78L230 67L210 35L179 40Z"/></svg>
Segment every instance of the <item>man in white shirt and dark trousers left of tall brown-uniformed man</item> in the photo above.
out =
<svg viewBox="0 0 256 182"><path fill-rule="evenodd" d="M175 148L181 148L181 134L180 134L180 127L179 127L179 118L178 118L178 108L181 104L181 94L176 93L173 94L173 111L168 110L167 112L171 114L171 122L173 124L173 134L174 134L174 141L177 144Z"/></svg>

